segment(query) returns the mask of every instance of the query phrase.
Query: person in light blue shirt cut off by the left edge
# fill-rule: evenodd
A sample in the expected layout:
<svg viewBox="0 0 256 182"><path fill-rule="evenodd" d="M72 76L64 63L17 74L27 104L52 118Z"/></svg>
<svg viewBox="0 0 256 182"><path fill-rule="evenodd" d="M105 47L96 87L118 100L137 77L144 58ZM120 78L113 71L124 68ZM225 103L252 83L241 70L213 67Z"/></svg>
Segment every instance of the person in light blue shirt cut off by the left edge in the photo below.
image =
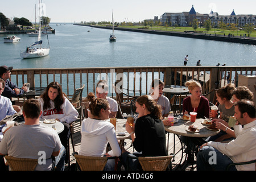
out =
<svg viewBox="0 0 256 182"><path fill-rule="evenodd" d="M13 109L9 98L1 96L5 90L5 81L0 78L0 121L6 117L6 115L13 115L16 111Z"/></svg>

